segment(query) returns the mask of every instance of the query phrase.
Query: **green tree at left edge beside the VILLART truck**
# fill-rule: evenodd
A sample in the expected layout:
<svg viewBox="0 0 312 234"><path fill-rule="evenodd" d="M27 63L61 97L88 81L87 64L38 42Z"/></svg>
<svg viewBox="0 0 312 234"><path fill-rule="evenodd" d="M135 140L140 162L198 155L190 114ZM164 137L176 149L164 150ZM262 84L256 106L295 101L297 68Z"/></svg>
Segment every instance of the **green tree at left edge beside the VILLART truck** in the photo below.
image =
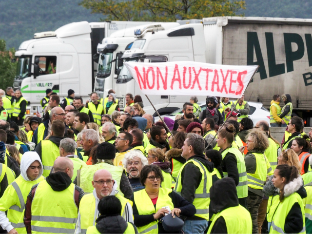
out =
<svg viewBox="0 0 312 234"><path fill-rule="evenodd" d="M0 88L5 90L12 86L16 73L16 63L14 59L15 49L6 50L5 40L0 39Z"/></svg>

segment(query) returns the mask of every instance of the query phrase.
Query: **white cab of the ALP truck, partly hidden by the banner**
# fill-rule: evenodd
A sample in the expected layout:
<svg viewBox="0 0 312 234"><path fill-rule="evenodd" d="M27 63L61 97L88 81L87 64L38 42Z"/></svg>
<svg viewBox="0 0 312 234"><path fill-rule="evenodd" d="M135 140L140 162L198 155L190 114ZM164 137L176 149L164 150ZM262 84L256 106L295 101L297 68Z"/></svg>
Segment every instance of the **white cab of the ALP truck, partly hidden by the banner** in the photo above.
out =
<svg viewBox="0 0 312 234"><path fill-rule="evenodd" d="M206 62L205 37L203 24L189 23L177 24L176 27L165 30L161 25L137 31L137 39L130 50L125 51L124 61L133 62L168 62L168 61L197 61ZM117 97L125 98L125 94L140 95L144 103L147 98L141 93L137 83L130 72L123 66L116 81ZM195 94L194 94L195 95ZM190 100L188 96L150 96L149 97L160 114L168 114L183 106ZM198 97L204 100L205 97ZM121 108L123 106L120 106ZM144 110L149 114L155 111L150 105Z"/></svg>

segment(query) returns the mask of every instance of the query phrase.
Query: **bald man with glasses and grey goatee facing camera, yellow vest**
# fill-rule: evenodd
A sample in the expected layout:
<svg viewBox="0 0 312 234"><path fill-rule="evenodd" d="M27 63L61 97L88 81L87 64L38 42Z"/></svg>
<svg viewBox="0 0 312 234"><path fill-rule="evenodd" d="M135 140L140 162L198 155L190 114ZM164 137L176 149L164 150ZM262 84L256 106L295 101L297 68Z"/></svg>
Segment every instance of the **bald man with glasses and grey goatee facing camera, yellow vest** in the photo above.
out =
<svg viewBox="0 0 312 234"><path fill-rule="evenodd" d="M118 193L117 181L112 177L112 174L100 169L94 173L92 185L94 187L93 193L85 195L81 199L78 219L76 224L75 234L85 233L85 230L90 226L95 225L98 217L98 202L105 196L116 196L121 202L121 216L126 222L134 223L132 205L129 200Z"/></svg>

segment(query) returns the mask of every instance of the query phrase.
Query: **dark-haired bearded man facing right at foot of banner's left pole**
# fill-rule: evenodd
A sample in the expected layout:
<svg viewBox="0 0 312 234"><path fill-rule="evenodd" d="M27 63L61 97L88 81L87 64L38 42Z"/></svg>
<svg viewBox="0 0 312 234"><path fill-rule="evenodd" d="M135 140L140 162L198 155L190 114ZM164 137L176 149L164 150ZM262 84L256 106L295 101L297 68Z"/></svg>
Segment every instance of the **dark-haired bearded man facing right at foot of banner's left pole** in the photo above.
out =
<svg viewBox="0 0 312 234"><path fill-rule="evenodd" d="M193 106L192 106L193 107ZM164 152L170 150L170 146L167 142L168 135L166 129L163 126L153 126L151 128L151 139L150 144L146 146L145 151L148 152L150 149L159 148Z"/></svg>

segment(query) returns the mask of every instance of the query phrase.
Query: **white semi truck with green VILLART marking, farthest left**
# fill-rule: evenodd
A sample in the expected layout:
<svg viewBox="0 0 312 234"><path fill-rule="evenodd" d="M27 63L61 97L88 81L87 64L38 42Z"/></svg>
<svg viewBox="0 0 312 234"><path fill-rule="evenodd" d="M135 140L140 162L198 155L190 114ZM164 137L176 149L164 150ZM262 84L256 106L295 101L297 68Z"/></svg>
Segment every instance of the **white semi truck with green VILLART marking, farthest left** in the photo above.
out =
<svg viewBox="0 0 312 234"><path fill-rule="evenodd" d="M117 30L141 24L146 22L74 22L22 42L15 53L18 69L14 89L21 90L30 114L41 111L40 100L48 88L60 97L73 89L76 96L89 98L98 68L98 43Z"/></svg>

